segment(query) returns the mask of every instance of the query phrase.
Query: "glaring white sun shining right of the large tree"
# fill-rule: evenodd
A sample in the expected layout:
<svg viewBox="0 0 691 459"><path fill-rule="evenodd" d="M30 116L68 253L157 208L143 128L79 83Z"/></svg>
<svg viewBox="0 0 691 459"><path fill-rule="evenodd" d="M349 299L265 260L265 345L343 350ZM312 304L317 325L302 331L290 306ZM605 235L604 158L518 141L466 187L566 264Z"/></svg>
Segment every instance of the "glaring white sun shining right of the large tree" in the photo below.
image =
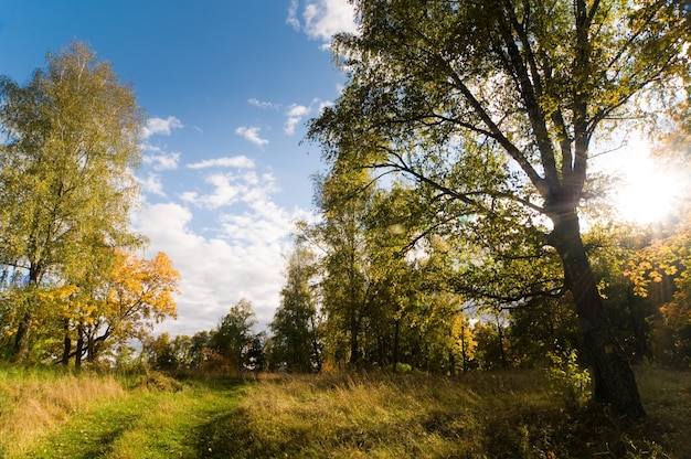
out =
<svg viewBox="0 0 691 459"><path fill-rule="evenodd" d="M645 140L629 143L618 156L614 174L621 185L613 195L621 220L637 224L659 222L674 211L689 189L688 172L650 156Z"/></svg>

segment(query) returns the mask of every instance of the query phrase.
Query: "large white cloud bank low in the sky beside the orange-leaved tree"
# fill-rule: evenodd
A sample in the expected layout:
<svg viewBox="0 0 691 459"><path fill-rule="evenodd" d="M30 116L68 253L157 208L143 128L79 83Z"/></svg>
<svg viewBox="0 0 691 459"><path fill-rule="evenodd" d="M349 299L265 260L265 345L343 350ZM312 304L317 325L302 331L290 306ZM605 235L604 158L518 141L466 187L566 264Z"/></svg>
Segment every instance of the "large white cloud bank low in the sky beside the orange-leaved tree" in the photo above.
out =
<svg viewBox="0 0 691 459"><path fill-rule="evenodd" d="M252 302L261 325L270 322L285 282L283 254L297 216L264 202L238 215L221 215L221 232L208 237L191 228L193 214L183 205L145 206L134 224L151 239L146 256L164 252L182 279L179 319L157 325L156 332L214 329L241 298Z"/></svg>

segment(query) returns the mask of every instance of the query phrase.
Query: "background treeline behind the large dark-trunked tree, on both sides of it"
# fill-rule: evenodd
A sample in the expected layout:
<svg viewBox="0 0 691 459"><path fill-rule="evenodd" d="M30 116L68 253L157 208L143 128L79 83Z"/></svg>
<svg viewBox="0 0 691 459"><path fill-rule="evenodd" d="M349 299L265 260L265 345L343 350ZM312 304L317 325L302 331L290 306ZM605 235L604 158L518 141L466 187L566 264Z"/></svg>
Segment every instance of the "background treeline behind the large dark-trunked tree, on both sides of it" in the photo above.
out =
<svg viewBox="0 0 691 459"><path fill-rule="evenodd" d="M389 199L398 192L380 191L381 201L373 202L386 203L394 216ZM349 370L455 375L545 367L566 362L573 352L581 365L589 364L581 352L573 300L556 288L563 279L530 300L482 301L453 291L451 267L458 261L449 258L442 237L418 239L412 249L400 223L381 213L363 220L376 227L360 226L349 239L358 241L357 248L341 245L341 237L338 245L326 241L325 232L338 230L328 218L302 226L268 330L256 331L252 305L241 300L214 330L149 339L143 361L160 370L233 375ZM689 218L612 225L586 235L608 320L632 363L691 365L690 237ZM502 288L510 291L522 274L502 276Z"/></svg>

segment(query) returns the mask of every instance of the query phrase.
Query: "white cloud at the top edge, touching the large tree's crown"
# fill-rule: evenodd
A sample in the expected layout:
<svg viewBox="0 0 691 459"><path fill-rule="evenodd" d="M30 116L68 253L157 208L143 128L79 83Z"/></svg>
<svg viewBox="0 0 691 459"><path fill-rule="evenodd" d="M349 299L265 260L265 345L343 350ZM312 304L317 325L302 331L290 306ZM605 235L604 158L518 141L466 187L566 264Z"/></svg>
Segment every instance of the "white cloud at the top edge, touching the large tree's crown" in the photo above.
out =
<svg viewBox="0 0 691 459"><path fill-rule="evenodd" d="M355 33L355 10L348 0L306 0L302 3L301 20L299 2L293 0L286 22L295 30L302 31L310 39L330 42L340 32Z"/></svg>

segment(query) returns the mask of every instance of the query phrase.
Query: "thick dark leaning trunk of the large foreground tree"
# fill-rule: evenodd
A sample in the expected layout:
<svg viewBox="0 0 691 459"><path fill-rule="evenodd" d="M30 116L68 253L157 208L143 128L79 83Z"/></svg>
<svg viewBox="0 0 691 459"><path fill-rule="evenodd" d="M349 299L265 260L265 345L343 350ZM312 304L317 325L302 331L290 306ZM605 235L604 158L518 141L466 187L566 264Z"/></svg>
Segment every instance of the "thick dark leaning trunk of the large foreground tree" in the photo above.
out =
<svg viewBox="0 0 691 459"><path fill-rule="evenodd" d="M645 416L636 376L605 316L575 212L555 218L551 237L574 298L584 350L593 364L595 398L619 414Z"/></svg>

